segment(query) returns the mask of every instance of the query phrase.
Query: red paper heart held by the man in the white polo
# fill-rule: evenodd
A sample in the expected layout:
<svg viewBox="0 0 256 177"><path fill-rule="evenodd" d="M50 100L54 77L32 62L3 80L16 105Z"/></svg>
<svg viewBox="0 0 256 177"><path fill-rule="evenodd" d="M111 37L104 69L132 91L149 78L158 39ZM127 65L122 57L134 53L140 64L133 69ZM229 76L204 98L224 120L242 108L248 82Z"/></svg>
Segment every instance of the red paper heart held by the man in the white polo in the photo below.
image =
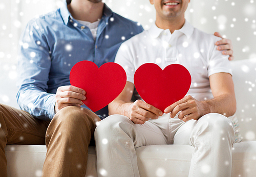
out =
<svg viewBox="0 0 256 177"><path fill-rule="evenodd" d="M164 109L182 99L191 85L188 70L170 64L162 70L157 64L142 64L135 72L134 85L141 98L164 113Z"/></svg>

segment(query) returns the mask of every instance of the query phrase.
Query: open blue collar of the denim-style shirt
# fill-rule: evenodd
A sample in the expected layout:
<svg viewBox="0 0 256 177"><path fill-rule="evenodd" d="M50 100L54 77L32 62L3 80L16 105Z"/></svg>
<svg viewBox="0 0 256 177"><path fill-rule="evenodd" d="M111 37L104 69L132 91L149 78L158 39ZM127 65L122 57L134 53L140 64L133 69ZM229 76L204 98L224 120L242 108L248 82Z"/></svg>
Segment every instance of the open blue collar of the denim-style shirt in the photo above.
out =
<svg viewBox="0 0 256 177"><path fill-rule="evenodd" d="M109 17L112 14L113 14L112 10L107 5L104 4L103 16ZM60 15L62 16L65 25L68 25L69 20L73 19L71 13L68 10L67 1L66 0L63 0L63 6L60 7Z"/></svg>

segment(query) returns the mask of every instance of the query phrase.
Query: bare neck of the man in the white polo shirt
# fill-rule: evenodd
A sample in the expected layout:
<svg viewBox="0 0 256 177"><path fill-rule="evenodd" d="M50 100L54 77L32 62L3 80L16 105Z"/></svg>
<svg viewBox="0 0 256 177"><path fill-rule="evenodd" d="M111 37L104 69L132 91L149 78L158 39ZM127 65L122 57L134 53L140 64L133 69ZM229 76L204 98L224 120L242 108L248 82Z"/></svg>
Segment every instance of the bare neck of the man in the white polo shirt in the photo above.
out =
<svg viewBox="0 0 256 177"><path fill-rule="evenodd" d="M158 18L156 19L156 26L158 28L161 28L161 29L169 29L170 30L170 33L173 34L173 32L175 30L179 30L183 27L185 23L185 18L181 18L181 19L161 19L161 18Z"/></svg>

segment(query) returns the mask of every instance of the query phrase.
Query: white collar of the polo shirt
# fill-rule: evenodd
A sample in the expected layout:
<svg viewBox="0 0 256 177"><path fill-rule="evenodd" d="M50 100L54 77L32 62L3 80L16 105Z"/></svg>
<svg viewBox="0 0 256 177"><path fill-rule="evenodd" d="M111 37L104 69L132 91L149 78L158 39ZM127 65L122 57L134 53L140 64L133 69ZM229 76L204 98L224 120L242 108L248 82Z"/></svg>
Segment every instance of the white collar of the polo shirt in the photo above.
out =
<svg viewBox="0 0 256 177"><path fill-rule="evenodd" d="M156 26L156 23L153 24L152 27L148 30L148 32L150 33L150 35L153 38L157 38L163 31L164 31L164 29L158 28ZM190 38L194 32L194 27L191 24L189 24L187 20L185 20L183 27L181 29L175 30L175 31L179 31L179 32L185 34L187 36L187 38Z"/></svg>

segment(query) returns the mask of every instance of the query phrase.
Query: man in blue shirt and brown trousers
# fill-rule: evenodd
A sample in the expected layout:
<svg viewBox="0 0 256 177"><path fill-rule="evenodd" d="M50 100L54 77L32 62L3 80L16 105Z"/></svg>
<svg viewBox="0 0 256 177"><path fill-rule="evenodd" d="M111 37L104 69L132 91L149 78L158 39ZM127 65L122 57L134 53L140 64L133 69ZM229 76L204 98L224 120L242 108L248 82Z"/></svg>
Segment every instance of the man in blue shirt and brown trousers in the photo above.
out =
<svg viewBox="0 0 256 177"><path fill-rule="evenodd" d="M43 176L86 174L96 123L108 111L103 108L93 113L83 105L86 91L70 85L70 70L82 60L98 67L113 62L121 43L142 31L101 0L67 1L62 8L28 23L18 55L17 100L25 111L0 105L2 176L7 176L6 144L45 143ZM232 57L230 41L219 42L220 50Z"/></svg>

